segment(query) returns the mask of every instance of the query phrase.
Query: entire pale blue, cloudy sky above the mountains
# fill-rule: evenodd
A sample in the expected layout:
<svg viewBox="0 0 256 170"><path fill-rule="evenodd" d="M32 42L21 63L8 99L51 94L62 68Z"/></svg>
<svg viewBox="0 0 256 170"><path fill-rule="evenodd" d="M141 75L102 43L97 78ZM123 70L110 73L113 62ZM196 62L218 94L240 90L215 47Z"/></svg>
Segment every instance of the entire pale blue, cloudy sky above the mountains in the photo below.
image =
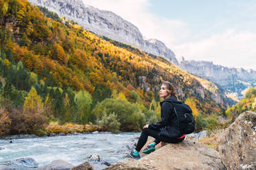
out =
<svg viewBox="0 0 256 170"><path fill-rule="evenodd" d="M136 25L176 58L256 71L256 0L84 0Z"/></svg>

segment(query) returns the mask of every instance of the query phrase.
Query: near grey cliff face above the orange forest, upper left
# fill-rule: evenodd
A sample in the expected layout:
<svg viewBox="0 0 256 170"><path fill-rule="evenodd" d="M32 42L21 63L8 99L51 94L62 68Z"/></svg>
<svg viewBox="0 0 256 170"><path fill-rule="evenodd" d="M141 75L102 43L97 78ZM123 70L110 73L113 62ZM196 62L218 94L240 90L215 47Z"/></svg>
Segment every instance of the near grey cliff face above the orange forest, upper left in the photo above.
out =
<svg viewBox="0 0 256 170"><path fill-rule="evenodd" d="M125 21L120 16L110 11L98 10L85 5L81 0L29 0L34 5L40 5L58 16L65 16L65 19L76 21L85 29L101 36L107 36L113 40L135 46L142 51L157 56L164 56L174 64L178 61L171 49L168 49L163 42L156 39L145 40L139 29Z"/></svg>

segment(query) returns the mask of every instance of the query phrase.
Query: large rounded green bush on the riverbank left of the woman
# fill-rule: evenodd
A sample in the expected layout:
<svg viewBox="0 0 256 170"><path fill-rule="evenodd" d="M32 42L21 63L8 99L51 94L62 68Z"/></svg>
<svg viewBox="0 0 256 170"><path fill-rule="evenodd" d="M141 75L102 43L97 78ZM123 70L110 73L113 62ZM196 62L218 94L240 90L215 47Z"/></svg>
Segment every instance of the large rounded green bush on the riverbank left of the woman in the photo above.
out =
<svg viewBox="0 0 256 170"><path fill-rule="evenodd" d="M129 101L104 99L92 110L98 120L102 119L104 112L107 115L113 112L117 115L122 132L139 132L145 125L145 115L136 104L130 104Z"/></svg>

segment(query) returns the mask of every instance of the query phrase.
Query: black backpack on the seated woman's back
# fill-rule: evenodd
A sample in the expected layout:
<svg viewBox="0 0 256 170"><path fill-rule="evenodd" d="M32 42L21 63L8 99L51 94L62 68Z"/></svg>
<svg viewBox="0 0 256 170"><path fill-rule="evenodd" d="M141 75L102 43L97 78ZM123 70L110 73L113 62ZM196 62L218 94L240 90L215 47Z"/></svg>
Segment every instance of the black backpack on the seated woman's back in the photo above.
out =
<svg viewBox="0 0 256 170"><path fill-rule="evenodd" d="M171 102L177 117L178 127L182 134L191 134L195 131L195 118L189 105Z"/></svg>

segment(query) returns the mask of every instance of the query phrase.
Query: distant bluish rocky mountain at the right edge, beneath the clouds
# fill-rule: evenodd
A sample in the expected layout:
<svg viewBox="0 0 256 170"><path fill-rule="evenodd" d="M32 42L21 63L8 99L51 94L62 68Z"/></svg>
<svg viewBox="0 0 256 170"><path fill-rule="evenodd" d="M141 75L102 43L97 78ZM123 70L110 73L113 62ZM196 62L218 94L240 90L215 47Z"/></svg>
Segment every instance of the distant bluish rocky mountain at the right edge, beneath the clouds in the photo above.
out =
<svg viewBox="0 0 256 170"><path fill-rule="evenodd" d="M244 96L245 90L256 86L256 71L242 68L228 68L213 64L213 62L184 60L181 58L178 66L189 73L204 77L216 83L225 90L231 99L239 101Z"/></svg>

